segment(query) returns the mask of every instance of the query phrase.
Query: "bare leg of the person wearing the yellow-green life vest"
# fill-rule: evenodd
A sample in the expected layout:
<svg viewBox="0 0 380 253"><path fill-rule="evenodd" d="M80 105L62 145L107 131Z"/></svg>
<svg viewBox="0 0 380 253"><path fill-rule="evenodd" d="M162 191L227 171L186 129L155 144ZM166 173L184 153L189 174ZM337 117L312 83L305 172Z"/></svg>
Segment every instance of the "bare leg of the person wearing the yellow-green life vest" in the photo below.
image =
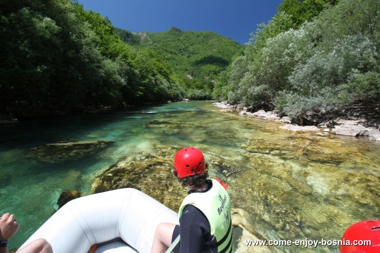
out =
<svg viewBox="0 0 380 253"><path fill-rule="evenodd" d="M171 236L173 235L175 224L160 223L157 225L154 233L151 253L164 253L171 245Z"/></svg>

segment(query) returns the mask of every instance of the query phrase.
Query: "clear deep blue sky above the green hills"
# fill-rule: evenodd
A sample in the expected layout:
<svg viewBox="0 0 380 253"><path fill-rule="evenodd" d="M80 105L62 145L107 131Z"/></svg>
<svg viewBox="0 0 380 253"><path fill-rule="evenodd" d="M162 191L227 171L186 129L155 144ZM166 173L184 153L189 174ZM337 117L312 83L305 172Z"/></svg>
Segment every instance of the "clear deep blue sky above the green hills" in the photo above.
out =
<svg viewBox="0 0 380 253"><path fill-rule="evenodd" d="M283 0L78 0L132 32L213 31L244 44Z"/></svg>

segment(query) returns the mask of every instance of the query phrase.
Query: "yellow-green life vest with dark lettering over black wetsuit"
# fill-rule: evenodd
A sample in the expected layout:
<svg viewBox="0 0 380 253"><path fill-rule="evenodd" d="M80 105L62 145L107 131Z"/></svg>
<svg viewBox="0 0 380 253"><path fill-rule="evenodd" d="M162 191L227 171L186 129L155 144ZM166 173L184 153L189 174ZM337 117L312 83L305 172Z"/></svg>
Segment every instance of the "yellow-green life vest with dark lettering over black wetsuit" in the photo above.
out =
<svg viewBox="0 0 380 253"><path fill-rule="evenodd" d="M210 252L233 252L231 203L225 189L216 180L211 180L212 187L207 192L195 192L187 195L179 207L178 217L187 205L193 205L207 218L210 229L210 242L204 242L203 249Z"/></svg>

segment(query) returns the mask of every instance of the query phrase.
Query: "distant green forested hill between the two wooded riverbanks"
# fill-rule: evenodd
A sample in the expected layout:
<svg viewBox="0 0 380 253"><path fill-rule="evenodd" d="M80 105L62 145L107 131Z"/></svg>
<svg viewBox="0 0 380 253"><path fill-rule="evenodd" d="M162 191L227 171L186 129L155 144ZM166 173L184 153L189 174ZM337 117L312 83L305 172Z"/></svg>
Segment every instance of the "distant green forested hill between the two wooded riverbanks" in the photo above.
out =
<svg viewBox="0 0 380 253"><path fill-rule="evenodd" d="M190 99L210 99L214 79L243 48L228 37L210 31L182 31L171 27L164 32L139 32L115 28L126 43L153 51L172 69L171 78Z"/></svg>

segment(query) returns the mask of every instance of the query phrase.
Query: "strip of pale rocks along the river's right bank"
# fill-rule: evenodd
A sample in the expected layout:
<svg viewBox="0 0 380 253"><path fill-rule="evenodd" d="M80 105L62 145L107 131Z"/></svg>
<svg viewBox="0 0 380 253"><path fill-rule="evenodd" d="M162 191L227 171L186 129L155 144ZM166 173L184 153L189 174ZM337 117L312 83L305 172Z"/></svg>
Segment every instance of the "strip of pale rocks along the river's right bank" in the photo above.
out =
<svg viewBox="0 0 380 253"><path fill-rule="evenodd" d="M222 112L233 112L236 111L240 115L246 115L248 117L258 117L262 119L272 119L279 122L285 123L285 125L279 126L278 128L294 131L294 132L320 132L317 135L325 135L328 133L333 133L336 135L345 135L353 137L363 137L368 140L380 141L380 121L372 120L370 123L360 117L351 118L336 118L334 120L329 120L316 125L298 125L295 122L296 119L287 116L280 116L272 111L265 112L264 110L259 110L257 112L249 112L247 108L239 108L235 105L230 105L225 102L216 102L215 106L221 108L219 111ZM366 126L372 127L366 127Z"/></svg>

